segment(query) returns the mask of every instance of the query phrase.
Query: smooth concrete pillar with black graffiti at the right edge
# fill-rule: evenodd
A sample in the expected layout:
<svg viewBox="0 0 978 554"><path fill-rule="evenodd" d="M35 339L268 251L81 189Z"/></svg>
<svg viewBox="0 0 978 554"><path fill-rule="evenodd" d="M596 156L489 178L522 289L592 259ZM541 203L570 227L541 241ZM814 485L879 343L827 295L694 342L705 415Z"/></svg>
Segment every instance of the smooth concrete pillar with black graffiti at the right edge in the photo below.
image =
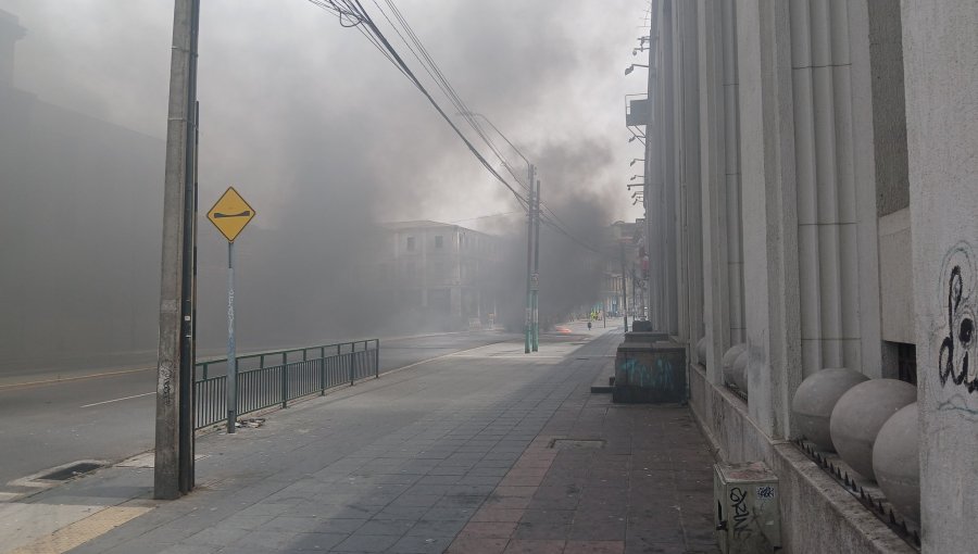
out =
<svg viewBox="0 0 978 554"><path fill-rule="evenodd" d="M978 520L978 3L902 3L923 550Z"/></svg>

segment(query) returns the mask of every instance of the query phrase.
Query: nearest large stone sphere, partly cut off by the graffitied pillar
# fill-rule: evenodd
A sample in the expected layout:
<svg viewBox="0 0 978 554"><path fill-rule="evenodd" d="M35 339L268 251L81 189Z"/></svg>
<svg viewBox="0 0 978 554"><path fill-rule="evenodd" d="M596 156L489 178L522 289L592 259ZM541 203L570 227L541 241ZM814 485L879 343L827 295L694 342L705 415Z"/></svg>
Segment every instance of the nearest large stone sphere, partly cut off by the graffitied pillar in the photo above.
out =
<svg viewBox="0 0 978 554"><path fill-rule="evenodd" d="M873 470L887 500L903 517L920 521L920 432L917 403L887 419L873 445Z"/></svg>

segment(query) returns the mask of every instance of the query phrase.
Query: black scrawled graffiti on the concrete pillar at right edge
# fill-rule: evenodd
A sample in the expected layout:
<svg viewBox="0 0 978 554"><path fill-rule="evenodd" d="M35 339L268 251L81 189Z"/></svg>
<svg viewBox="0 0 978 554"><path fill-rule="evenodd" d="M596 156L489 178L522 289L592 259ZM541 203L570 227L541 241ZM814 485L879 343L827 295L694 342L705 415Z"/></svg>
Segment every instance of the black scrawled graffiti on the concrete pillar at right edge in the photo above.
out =
<svg viewBox="0 0 978 554"><path fill-rule="evenodd" d="M969 244L960 242L948 252L941 268L941 327L938 376L941 386L978 391L975 360L976 272Z"/></svg>

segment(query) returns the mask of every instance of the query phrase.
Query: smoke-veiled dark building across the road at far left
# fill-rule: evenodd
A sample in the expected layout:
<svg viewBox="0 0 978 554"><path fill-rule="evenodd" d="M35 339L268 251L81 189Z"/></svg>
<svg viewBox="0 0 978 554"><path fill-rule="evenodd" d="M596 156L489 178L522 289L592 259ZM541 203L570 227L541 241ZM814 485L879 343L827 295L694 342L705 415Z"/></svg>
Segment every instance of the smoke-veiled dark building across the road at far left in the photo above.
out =
<svg viewBox="0 0 978 554"><path fill-rule="evenodd" d="M131 363L155 352L164 144L18 88L29 37L0 10L0 367Z"/></svg>

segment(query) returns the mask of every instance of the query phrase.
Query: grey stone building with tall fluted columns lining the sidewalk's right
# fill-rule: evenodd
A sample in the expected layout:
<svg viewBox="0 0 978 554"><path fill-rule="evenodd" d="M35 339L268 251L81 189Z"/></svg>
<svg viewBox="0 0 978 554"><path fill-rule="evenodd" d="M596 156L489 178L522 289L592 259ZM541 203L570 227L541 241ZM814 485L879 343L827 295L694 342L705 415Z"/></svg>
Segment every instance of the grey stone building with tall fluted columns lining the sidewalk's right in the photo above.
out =
<svg viewBox="0 0 978 554"><path fill-rule="evenodd" d="M648 43L650 320L719 457L778 475L787 552L973 552L978 3L652 0ZM910 534L792 442L837 367L916 387Z"/></svg>

